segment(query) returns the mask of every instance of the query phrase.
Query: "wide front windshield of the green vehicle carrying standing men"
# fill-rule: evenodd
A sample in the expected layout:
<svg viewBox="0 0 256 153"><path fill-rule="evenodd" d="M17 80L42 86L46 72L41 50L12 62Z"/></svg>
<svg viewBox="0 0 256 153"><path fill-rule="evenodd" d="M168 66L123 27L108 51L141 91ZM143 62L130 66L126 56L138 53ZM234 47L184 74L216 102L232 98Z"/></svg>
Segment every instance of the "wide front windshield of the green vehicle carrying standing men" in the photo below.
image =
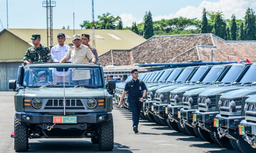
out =
<svg viewBox="0 0 256 153"><path fill-rule="evenodd" d="M86 84L102 88L102 80L101 69L95 67L24 67L23 86L39 88L65 83L67 87Z"/></svg>

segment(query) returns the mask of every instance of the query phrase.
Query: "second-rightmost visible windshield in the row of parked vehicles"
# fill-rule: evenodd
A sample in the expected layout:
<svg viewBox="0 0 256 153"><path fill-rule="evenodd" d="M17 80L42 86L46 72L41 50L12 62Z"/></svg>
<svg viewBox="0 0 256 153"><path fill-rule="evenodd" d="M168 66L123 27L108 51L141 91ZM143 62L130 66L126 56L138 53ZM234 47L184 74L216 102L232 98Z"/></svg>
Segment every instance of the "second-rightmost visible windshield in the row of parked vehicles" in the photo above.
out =
<svg viewBox="0 0 256 153"><path fill-rule="evenodd" d="M221 82L233 83L243 68L244 66L231 66Z"/></svg>

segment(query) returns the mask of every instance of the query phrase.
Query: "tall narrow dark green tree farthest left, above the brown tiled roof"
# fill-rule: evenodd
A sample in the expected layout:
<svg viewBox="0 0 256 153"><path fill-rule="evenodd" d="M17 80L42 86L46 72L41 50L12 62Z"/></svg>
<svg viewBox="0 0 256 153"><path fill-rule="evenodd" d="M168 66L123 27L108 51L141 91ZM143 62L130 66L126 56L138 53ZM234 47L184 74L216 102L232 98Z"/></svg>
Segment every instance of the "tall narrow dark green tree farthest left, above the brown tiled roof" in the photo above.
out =
<svg viewBox="0 0 256 153"><path fill-rule="evenodd" d="M151 38L154 35L153 31L153 21L152 21L152 14L149 11L148 13L146 12L144 18L144 38L148 39Z"/></svg>

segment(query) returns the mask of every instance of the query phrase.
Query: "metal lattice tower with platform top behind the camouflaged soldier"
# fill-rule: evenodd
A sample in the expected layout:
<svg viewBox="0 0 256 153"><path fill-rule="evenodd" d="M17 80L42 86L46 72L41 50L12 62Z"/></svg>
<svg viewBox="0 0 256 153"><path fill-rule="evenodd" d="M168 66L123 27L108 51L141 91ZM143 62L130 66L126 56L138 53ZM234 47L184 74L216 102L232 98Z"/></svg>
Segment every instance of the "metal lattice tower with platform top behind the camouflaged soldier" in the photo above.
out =
<svg viewBox="0 0 256 153"><path fill-rule="evenodd" d="M44 0L43 7L46 7L47 16L47 46L53 46L53 8L56 1Z"/></svg>

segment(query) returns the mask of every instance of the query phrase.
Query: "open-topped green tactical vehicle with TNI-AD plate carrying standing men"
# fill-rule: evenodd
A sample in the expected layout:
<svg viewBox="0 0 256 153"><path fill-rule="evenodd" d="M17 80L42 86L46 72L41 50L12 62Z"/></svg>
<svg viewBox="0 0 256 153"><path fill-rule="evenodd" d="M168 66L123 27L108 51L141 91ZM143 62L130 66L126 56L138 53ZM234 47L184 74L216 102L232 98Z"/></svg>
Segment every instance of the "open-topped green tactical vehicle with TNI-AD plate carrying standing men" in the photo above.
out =
<svg viewBox="0 0 256 153"><path fill-rule="evenodd" d="M68 82L53 83L52 74ZM43 79L44 78L44 79ZM85 84L77 84L84 80ZM113 149L112 95L101 65L36 63L19 66L9 80L14 96L14 149L29 149L28 138L91 138L99 150ZM108 89L115 88L115 80Z"/></svg>

